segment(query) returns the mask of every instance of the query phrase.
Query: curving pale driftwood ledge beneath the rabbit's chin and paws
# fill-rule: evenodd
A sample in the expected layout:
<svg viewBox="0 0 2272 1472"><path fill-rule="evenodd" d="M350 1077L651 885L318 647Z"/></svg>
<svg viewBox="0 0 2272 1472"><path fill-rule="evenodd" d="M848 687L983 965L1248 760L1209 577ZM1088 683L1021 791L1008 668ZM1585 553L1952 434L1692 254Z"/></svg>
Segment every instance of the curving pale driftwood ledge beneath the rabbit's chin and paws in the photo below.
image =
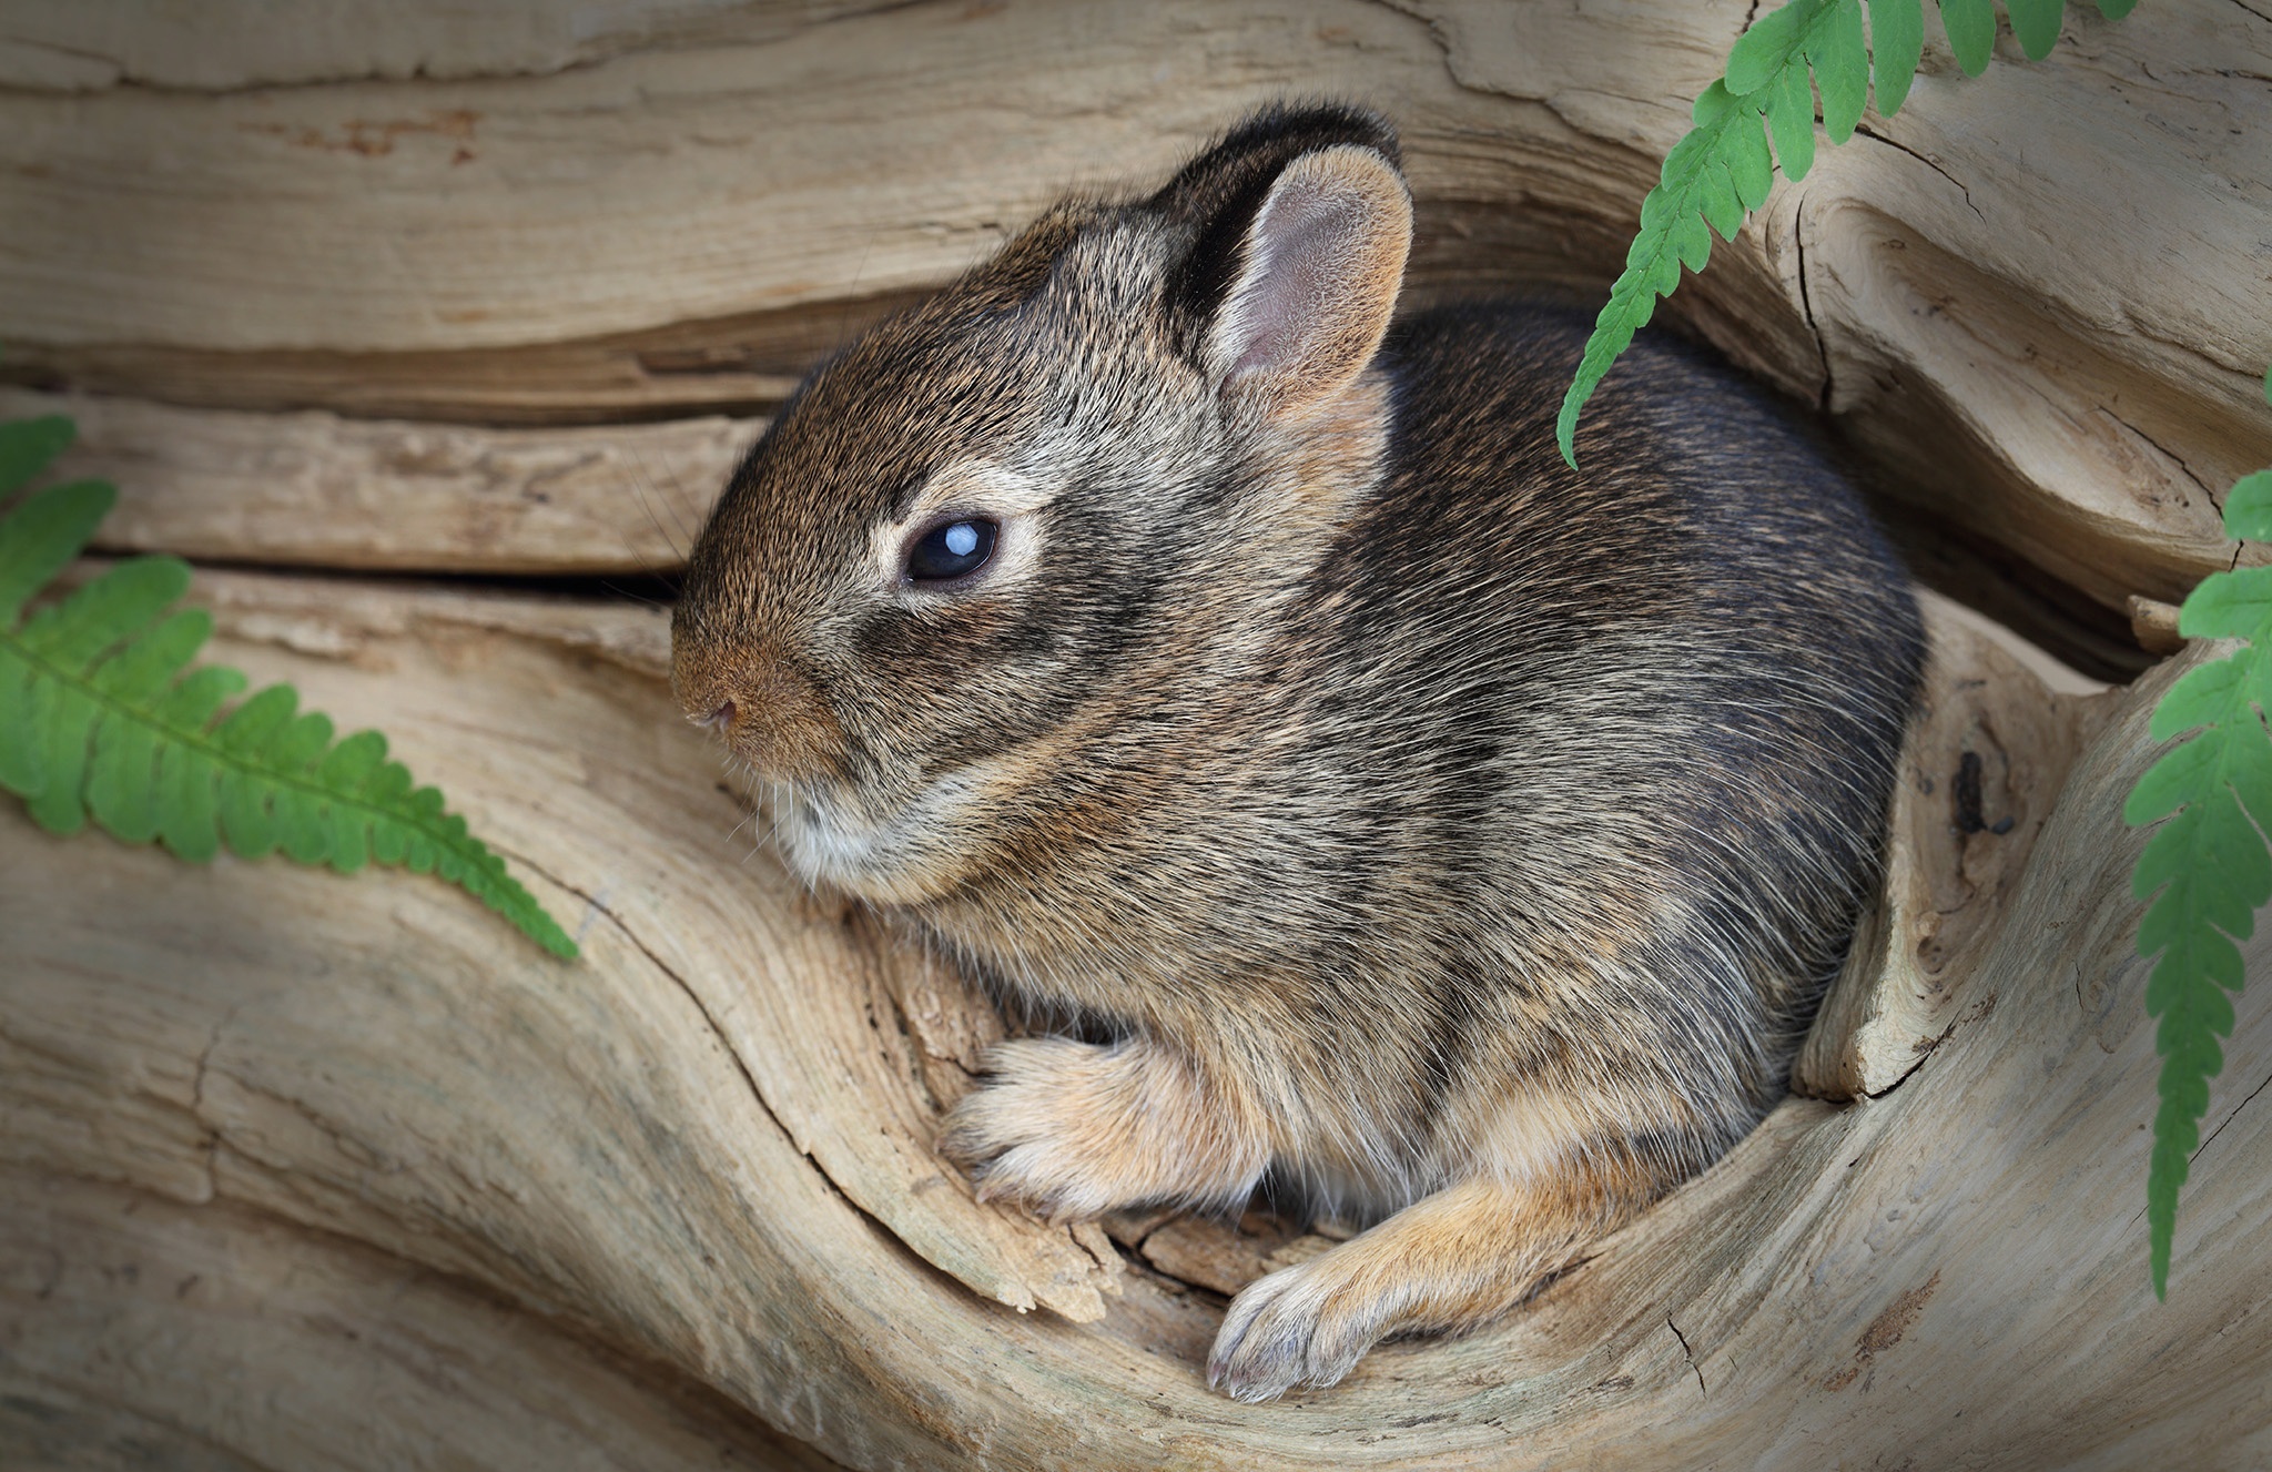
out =
<svg viewBox="0 0 2272 1472"><path fill-rule="evenodd" d="M1390 1345L1331 1392L1231 1408L1200 1358L1218 1293L1277 1238L1243 1249L1186 1224L1113 1277L1095 1238L977 1208L927 1129L929 1079L984 1038L984 1011L750 850L716 754L652 677L595 661L557 602L259 575L200 595L223 654L348 725L384 720L586 959L545 959L432 879L191 870L48 838L9 809L0 1140L18 1179L107 1181L123 1195L100 1211L145 1199L198 1240L252 1213L286 1258L357 1245L500 1304L498 1336L552 1345L525 1322L543 1320L654 1368L609 1395L698 1383L863 1467L1820 1465L1824 1445L1863 1463L2240 1467L2272 1436L2272 1329L2231 1308L2272 1290L2265 988L2238 1000L2170 1302L2145 1281L2156 1059L2131 956L2138 836L2118 806L2177 666L2120 695L2074 761L1963 1013L1897 1088L1793 1099L1500 1329ZM2267 950L2254 940L2252 965ZM82 1238L61 1224L98 1208L39 1190L0 1202L14 1240L75 1283L195 1256ZM148 1320L23 1281L0 1329L55 1424L118 1424L111 1397L252 1461L273 1445L268 1386L350 1397L366 1374L357 1354L304 1358L291 1324L309 1308L289 1290L261 1311L186 1293L173 1333L239 1370L102 1381L89 1365ZM1081 1281L1102 1318L1009 1306L1054 1297L1086 1318ZM350 1320L373 1356L400 1327L382 1318ZM607 1354L570 1383L598 1383ZM432 1402L436 1436L482 1402ZM384 1465L359 1415L327 1456Z"/></svg>

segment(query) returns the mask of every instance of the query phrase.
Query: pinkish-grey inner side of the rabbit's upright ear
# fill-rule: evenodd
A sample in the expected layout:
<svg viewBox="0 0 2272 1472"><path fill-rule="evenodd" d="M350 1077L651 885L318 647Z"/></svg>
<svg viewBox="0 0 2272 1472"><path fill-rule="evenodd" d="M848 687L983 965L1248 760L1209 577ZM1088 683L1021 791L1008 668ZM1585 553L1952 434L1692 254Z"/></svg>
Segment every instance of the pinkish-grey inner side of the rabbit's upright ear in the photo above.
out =
<svg viewBox="0 0 2272 1472"><path fill-rule="evenodd" d="M1409 243L1411 200L1388 159L1327 148L1288 164L1216 323L1222 391L1277 413L1356 377L1388 329Z"/></svg>

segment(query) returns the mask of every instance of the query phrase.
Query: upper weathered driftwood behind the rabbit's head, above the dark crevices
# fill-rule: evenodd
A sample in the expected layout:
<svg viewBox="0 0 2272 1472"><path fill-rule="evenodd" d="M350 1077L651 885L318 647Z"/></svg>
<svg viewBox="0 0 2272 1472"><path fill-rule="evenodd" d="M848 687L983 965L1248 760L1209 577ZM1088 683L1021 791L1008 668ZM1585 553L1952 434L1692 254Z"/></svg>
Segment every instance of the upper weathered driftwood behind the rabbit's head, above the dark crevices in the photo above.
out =
<svg viewBox="0 0 2272 1472"><path fill-rule="evenodd" d="M325 7L239 48L275 27L227 5L186 34L127 0L16 7L5 373L448 418L747 413L877 293L945 279L1066 186L1156 177L1286 93L1404 125L1415 300L1599 288L1752 9L1177 0L802 23L650 0L579 34L529 0L414 7L384 41ZM2265 116L2272 20L2070 9L2047 61L2006 39L1977 82L1936 39L1902 114L1779 184L1670 313L1824 402L1899 495L2122 611L2224 566L2215 497L2272 459L2272 182L2245 125ZM736 323L802 357L743 352Z"/></svg>

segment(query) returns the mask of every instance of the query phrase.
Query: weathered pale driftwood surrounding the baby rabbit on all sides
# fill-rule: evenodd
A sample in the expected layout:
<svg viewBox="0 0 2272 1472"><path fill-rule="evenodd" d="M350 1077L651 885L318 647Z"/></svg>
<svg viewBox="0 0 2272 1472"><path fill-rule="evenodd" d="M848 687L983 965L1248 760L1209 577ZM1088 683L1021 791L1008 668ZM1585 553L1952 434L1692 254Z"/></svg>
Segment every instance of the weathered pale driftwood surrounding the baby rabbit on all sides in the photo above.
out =
<svg viewBox="0 0 2272 1472"><path fill-rule="evenodd" d="M1331 1392L1197 1365L1343 1227L972 1202L929 1143L1000 1020L786 879L607 582L813 354L1263 98L1404 125L1415 300L1599 291L1749 9L0 7L0 413L75 413L105 550L207 563L214 654L384 727L586 947L0 804L0 1463L2272 1461L2272 940L2156 1304L2120 822L2272 463L2261 7L2081 7L1979 82L1933 36L1668 307L1956 600L1886 895L1745 1145Z"/></svg>

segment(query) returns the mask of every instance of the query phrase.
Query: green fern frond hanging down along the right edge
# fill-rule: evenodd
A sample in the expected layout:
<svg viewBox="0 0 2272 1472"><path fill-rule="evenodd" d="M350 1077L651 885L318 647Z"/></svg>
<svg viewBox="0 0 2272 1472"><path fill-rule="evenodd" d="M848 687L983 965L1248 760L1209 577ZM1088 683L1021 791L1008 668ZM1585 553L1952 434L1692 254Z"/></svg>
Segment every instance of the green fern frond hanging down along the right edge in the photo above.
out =
<svg viewBox="0 0 2272 1472"><path fill-rule="evenodd" d="M2265 373L2272 402L2272 373ZM2224 534L2272 541L2272 470L2242 477L2224 497ZM2245 638L2204 663L2154 706L2154 741L2190 736L2131 788L2122 820L2161 829L2138 854L2131 890L2152 900L2138 954L2154 963L2145 1011L2156 1020L2161 1104L2147 1168L2147 1258L2154 1297L2170 1288L2177 1193L2192 1170L2208 1113L2208 1081L2224 1070L2217 1038L2233 1036L2227 993L2242 984L2240 940L2272 900L2272 568L2211 572L2177 616L2188 638ZM2174 816L2172 816L2174 813ZM2254 822L2252 822L2254 820Z"/></svg>

